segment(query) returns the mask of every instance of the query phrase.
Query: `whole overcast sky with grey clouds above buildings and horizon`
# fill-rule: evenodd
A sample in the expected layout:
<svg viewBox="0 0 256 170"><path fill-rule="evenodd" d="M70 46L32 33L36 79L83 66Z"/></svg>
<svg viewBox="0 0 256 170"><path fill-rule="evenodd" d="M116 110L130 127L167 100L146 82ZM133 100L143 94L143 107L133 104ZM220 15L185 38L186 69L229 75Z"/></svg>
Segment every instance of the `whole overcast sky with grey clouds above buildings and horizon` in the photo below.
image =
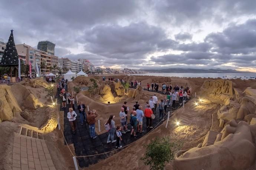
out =
<svg viewBox="0 0 256 170"><path fill-rule="evenodd" d="M1 0L0 38L112 68L256 72L255 0Z"/></svg>

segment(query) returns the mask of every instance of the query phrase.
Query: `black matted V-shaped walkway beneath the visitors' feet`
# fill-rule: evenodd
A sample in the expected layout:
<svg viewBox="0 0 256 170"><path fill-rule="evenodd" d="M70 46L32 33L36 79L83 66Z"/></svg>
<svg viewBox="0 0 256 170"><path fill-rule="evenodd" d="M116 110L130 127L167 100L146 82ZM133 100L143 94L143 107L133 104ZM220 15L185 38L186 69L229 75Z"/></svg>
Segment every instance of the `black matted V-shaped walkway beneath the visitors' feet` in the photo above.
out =
<svg viewBox="0 0 256 170"><path fill-rule="evenodd" d="M60 102L61 101L59 99L59 103ZM122 105L122 103L120 103L120 106L121 105ZM180 105L178 103L176 103L175 108L178 108L178 106L180 106ZM77 110L76 102L75 102L75 112L78 115L77 119L76 119L77 120L77 129L76 129L76 133L73 134L72 130L70 128L69 120L67 118L67 113L69 112L69 110L68 110L69 105L67 105L67 107L64 109L62 109L61 107L62 106L60 106L60 110L62 110L62 111L64 110L64 136L65 136L65 139L66 139L68 145L73 143L76 156L88 156L88 157L78 157L77 158L80 167L88 167L91 164L98 163L99 160L101 160L101 159L106 159L107 157L115 154L116 152L119 152L120 150L125 148L125 146L140 139L142 136L146 135L148 132L151 131L151 129L147 129L146 119L143 118L142 129L144 130L144 132L137 133L137 137L131 136L130 132L128 132L126 134L122 134L123 140L121 142L121 145L123 146L123 148L116 150L116 148L115 148L116 142L115 143L106 143L107 138L108 138L108 132L98 135L98 137L96 137L95 139L92 139L90 137L89 125L88 124L81 125L81 122L79 119L80 113ZM96 109L96 108L90 107L90 109ZM172 110L171 107L167 107L167 112L168 111L174 111L174 110ZM119 112L119 110L116 110L116 112ZM101 114L101 113L98 113L98 114ZM130 115L130 114L128 113L128 115ZM170 114L170 117L171 117L171 114ZM167 119L167 116L165 117L165 120L166 119ZM120 124L119 117L114 118L114 121L115 121L116 125ZM156 127L156 126L161 125L162 123L163 123L163 121L161 121L159 119L159 110L157 108L156 112L155 112L155 119L152 120L152 126ZM128 129L131 129L131 125L129 124L129 119L128 119ZM116 134L115 134L115 139L116 139ZM112 151L112 152L110 152L110 151ZM110 152L110 153L105 153L105 152ZM104 154L101 154L101 153L104 153ZM100 154L100 155L89 156L89 155L94 155L94 154Z"/></svg>

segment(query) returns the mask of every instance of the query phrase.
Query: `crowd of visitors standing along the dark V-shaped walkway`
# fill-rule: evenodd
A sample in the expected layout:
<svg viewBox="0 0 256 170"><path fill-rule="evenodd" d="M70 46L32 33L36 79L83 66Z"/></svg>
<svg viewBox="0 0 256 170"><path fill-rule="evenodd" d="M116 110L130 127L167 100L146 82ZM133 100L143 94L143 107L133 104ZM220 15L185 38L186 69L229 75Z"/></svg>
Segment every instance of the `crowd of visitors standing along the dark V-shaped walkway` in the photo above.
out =
<svg viewBox="0 0 256 170"><path fill-rule="evenodd" d="M63 84L63 82L61 84ZM131 86L136 86L136 84L141 85L141 82L138 83L137 81L135 81L134 84L133 82L130 82ZM147 87L148 89L150 88L148 85ZM152 83L152 87L155 87L154 89L156 92L158 91L157 83ZM64 108L66 107L66 100L64 98L65 96L66 98L68 98L69 112L67 118L69 119L72 132L75 134L77 114L74 111L74 99L73 96L70 95L70 93L65 89L65 86L62 86L60 96L63 98ZM166 92L167 95L165 95L164 98L160 101L158 101L157 95L154 94L154 96L151 96L150 100L145 103L145 106L140 105L138 101L135 101L135 104L131 110L129 109L129 107L127 106L127 102L125 101L119 112L120 126L115 125L116 120L114 120L114 115L109 116L109 119L104 124L105 130L107 130L109 133L106 143L116 142L115 147L121 148L122 135L126 135L128 133L133 137L137 137L138 134L144 132L144 129L142 129L143 119L146 119L147 129L150 130L153 128L152 121L155 119L155 113L157 109L159 110L160 120L164 120L164 116L167 114L167 107L172 106L172 108L175 108L175 103L179 103L181 105L183 101L186 102L191 97L191 87L183 88L183 86L179 87L178 85L175 85L173 88L171 85L163 84L162 91ZM66 93L66 95L64 95L64 93ZM98 113L96 112L96 110L89 110L88 114L86 114L85 108L86 106L80 101L77 109L80 113L81 125L83 125L83 123L88 123L91 138L95 139L97 137L97 134L95 132L95 118L98 116ZM129 112L130 114L128 115ZM128 121L131 125L131 129L128 129Z"/></svg>

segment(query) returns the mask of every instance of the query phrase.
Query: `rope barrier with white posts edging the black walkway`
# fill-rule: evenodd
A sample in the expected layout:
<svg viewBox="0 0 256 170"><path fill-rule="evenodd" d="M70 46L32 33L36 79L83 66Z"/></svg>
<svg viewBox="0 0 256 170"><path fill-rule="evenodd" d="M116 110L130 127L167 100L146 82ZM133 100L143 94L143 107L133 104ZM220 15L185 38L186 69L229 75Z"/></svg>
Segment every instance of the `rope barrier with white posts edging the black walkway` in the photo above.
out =
<svg viewBox="0 0 256 170"><path fill-rule="evenodd" d="M195 98L196 98L196 94L195 94ZM191 99L193 99L193 97L191 97L190 100L191 100ZM190 100L189 100L189 101L190 101ZM138 142L138 141L141 140L142 138L146 137L150 132L152 132L152 130L154 130L155 128L158 127L158 125L160 125L160 123L165 119L166 116L167 116L167 122L166 122L165 128L167 128L167 125L168 125L168 122L169 122L169 118L170 118L170 114L173 113L173 112L175 112L175 111L177 111L179 108L181 108L181 106L183 106L183 108L184 108L184 103L185 103L185 100L183 101L183 105L178 106L178 108L175 109L175 110L173 110L173 111L169 111L169 112L163 117L163 119L161 119L161 120L157 123L156 126L154 126L148 133L146 133L144 136L142 136L142 137L139 138L138 140L135 140L134 142L129 143L128 145L125 145L125 146L123 146L123 147L121 147L121 148L117 148L117 149L114 149L114 150L111 150L111 151L108 151L108 152L98 153L98 154L92 154L92 155L85 155L85 156L75 156L75 154L74 154L74 153L72 152L72 150L70 149L67 140L65 139L63 130L62 130L61 126L60 126L60 121L59 121L59 119L60 119L60 116L59 116L59 108L60 108L60 105L58 105L57 99L56 99L56 111L57 111L57 114L58 114L58 126L59 126L59 130L61 131L62 136L63 136L63 138L64 138L64 140L65 140L65 143L66 143L66 145L68 146L68 149L69 149L70 153L71 153L72 156L73 156L73 162L74 162L74 165L75 165L75 169L78 170L77 158L99 156L99 155L103 155L103 154L115 152L115 151L117 151L117 150L120 150L120 149L123 149L123 148L125 148L125 147L128 147L128 146L132 145L133 143ZM88 111L89 111L89 106L87 106L87 108L88 108ZM98 120L98 119L97 119L97 120ZM99 132L100 132L100 130L101 130L101 129L100 129L100 120L98 120L98 126L99 126L99 127L98 127L98 128L99 128Z"/></svg>

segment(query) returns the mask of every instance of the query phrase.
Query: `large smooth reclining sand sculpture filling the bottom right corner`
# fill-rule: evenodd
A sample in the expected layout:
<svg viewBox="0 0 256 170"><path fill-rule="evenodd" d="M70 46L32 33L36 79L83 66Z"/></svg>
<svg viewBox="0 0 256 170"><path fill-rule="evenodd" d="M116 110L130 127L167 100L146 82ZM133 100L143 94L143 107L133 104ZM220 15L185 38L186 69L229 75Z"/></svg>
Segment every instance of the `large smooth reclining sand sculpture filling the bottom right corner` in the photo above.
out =
<svg viewBox="0 0 256 170"><path fill-rule="evenodd" d="M217 134L217 133L216 133ZM180 153L174 160L178 170L183 169L246 169L254 164L255 145L248 123L235 120L216 135L213 145L194 147Z"/></svg>

